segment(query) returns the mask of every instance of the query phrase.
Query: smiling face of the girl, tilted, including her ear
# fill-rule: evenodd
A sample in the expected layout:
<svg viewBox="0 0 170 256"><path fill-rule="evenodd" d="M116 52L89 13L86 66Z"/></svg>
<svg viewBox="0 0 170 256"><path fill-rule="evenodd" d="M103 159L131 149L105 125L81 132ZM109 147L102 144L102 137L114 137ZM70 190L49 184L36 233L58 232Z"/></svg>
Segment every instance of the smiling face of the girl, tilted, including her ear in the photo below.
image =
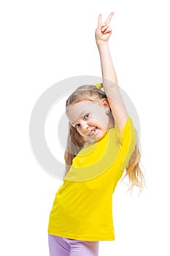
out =
<svg viewBox="0 0 170 256"><path fill-rule="evenodd" d="M82 101L70 105L67 116L72 126L84 138L100 140L109 127L109 109L107 99L101 99L101 103Z"/></svg>

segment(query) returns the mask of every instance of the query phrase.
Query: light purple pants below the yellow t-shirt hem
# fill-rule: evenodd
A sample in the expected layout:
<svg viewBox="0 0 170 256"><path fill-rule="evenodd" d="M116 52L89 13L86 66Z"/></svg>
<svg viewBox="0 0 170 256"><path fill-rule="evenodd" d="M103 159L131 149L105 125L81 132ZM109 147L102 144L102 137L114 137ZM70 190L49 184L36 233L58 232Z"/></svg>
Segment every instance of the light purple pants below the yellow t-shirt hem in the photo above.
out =
<svg viewBox="0 0 170 256"><path fill-rule="evenodd" d="M48 234L50 256L98 256L99 241L81 241Z"/></svg>

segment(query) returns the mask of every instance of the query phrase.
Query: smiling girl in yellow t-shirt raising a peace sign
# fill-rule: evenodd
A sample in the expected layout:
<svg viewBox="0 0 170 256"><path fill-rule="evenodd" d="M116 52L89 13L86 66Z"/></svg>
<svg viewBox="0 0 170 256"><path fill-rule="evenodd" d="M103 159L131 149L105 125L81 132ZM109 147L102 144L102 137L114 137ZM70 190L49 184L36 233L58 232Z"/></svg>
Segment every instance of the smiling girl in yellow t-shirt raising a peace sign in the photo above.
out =
<svg viewBox="0 0 170 256"><path fill-rule="evenodd" d="M136 131L125 110L109 53L109 21L98 16L96 45L103 83L80 86L66 100L66 175L50 212L50 256L96 256L99 241L115 239L112 194L125 176L142 189ZM101 89L103 86L103 89Z"/></svg>

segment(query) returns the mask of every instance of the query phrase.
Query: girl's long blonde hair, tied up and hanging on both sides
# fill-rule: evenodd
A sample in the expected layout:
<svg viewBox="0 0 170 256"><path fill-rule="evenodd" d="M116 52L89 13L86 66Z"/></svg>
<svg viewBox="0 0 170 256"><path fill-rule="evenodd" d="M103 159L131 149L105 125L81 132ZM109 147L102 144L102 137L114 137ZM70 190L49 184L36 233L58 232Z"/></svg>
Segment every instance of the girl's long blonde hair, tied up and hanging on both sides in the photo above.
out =
<svg viewBox="0 0 170 256"><path fill-rule="evenodd" d="M91 101L91 102L99 102L101 99L107 99L107 95L104 91L97 89L96 86L93 85L85 85L78 87L66 100L66 112L69 105L72 105L81 101ZM112 112L111 112L112 115ZM114 117L113 117L114 119ZM115 124L115 119L114 119ZM136 129L135 129L136 132ZM137 133L136 133L137 138ZM77 132L77 129L72 126L69 122L69 135L67 138L67 146L64 154L64 159L66 162L66 173L68 173L70 166L72 165L72 160L80 149L82 149L86 144L87 140ZM144 187L144 175L142 173L141 167L139 166L141 159L141 152L139 150L139 142L136 141L136 146L134 149L134 153L131 155L131 159L128 162L125 170L125 176L128 176L129 182L131 186L129 189L132 189L134 186L139 187L140 190Z"/></svg>

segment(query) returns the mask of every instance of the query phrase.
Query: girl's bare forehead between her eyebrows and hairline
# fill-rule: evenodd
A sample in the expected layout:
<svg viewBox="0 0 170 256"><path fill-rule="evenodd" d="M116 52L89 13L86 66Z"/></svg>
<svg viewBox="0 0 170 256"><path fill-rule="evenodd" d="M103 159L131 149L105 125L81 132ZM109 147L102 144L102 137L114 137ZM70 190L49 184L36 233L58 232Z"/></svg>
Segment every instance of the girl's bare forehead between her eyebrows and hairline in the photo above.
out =
<svg viewBox="0 0 170 256"><path fill-rule="evenodd" d="M88 113L88 111L96 111L101 108L99 103L84 101L78 102L74 105L70 105L67 109L67 116L69 121L73 124L78 118L82 117L83 114Z"/></svg>

